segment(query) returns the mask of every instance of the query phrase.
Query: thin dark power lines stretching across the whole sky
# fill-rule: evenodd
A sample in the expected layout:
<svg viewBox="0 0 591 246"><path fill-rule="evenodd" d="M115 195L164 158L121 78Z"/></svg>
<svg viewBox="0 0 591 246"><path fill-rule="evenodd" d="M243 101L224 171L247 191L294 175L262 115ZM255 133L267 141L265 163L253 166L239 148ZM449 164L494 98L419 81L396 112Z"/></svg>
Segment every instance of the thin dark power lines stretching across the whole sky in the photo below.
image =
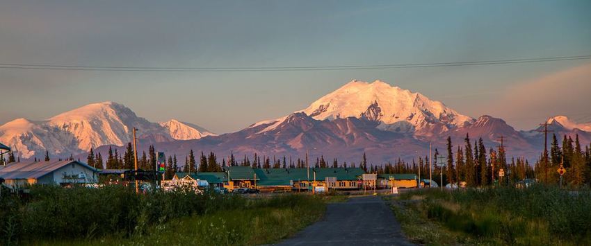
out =
<svg viewBox="0 0 591 246"><path fill-rule="evenodd" d="M314 67L106 67L54 64L0 63L0 69L72 70L72 71L165 71L165 72L240 72L240 71L329 71L367 69L409 69L421 67L458 67L492 64L515 64L533 62L557 62L567 60L588 60L591 55L560 56L552 58L526 58L512 60L481 60L468 62L433 62L410 64L340 65Z"/></svg>

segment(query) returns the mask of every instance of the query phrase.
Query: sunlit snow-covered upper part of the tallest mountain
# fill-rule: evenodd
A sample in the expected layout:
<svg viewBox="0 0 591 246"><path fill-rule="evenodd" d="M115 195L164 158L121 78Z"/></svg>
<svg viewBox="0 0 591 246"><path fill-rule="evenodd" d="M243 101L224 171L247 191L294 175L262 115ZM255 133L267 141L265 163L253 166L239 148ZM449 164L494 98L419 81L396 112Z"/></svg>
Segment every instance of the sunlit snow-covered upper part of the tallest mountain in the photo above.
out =
<svg viewBox="0 0 591 246"><path fill-rule="evenodd" d="M298 112L317 120L364 118L379 123L380 130L412 133L416 137L430 137L474 121L439 101L380 80L371 83L353 80ZM251 127L273 123L263 131L273 130L284 120L286 117L261 121Z"/></svg>

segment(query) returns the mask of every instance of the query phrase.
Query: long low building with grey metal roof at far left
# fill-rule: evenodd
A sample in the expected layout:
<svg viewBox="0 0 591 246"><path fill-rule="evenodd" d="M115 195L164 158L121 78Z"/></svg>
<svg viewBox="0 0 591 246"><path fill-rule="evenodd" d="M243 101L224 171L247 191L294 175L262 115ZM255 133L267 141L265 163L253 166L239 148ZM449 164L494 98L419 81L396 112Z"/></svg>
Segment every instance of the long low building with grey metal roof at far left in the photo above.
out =
<svg viewBox="0 0 591 246"><path fill-rule="evenodd" d="M4 183L13 188L31 184L95 184L98 171L79 161L17 162L0 169Z"/></svg>

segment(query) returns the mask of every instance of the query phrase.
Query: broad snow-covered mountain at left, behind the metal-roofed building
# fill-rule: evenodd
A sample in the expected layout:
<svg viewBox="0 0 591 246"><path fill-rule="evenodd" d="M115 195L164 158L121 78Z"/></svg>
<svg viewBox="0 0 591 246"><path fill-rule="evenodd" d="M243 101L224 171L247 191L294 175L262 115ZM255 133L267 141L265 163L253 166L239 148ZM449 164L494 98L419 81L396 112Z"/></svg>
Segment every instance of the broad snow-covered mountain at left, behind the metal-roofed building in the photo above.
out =
<svg viewBox="0 0 591 246"><path fill-rule="evenodd" d="M45 150L51 155L70 155L98 146L123 146L131 141L134 127L140 129L138 138L150 142L199 139L211 134L175 120L163 125L138 117L118 103L92 103L44 121L10 121L0 126L0 142L29 158L43 155Z"/></svg>

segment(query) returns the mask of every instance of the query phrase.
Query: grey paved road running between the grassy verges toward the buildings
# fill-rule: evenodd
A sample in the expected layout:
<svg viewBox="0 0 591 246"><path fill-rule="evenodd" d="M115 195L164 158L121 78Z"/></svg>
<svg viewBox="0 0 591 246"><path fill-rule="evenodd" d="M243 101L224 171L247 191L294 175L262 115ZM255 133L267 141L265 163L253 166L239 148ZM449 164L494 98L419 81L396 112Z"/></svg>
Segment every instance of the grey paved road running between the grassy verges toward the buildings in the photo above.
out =
<svg viewBox="0 0 591 246"><path fill-rule="evenodd" d="M353 197L328 204L321 221L279 245L412 245L380 197Z"/></svg>

